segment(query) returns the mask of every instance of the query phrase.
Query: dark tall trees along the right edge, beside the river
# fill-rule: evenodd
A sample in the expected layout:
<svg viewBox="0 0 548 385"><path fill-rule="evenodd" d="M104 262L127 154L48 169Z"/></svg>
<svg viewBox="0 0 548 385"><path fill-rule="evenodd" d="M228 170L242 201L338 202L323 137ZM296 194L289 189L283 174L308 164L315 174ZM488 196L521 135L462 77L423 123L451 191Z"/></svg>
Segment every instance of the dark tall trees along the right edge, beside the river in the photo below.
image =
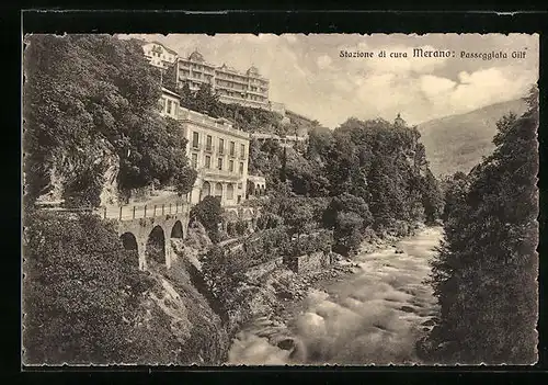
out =
<svg viewBox="0 0 548 385"><path fill-rule="evenodd" d="M430 342L450 362L536 361L537 92L498 123L494 152L446 190L445 241L432 282L441 322Z"/></svg>

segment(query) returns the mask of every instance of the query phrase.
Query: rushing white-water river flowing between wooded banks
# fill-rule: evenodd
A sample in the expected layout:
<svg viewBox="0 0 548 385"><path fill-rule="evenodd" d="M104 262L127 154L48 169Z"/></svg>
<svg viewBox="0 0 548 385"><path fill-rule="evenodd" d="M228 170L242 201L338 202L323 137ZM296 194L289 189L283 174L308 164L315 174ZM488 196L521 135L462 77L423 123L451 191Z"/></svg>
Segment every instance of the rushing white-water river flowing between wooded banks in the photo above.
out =
<svg viewBox="0 0 548 385"><path fill-rule="evenodd" d="M228 364L420 364L414 346L437 316L429 260L442 229L430 227L395 247L356 256L354 273L309 290L285 330L258 320L235 339ZM265 329L274 329L265 332ZM293 340L273 343L273 333ZM286 350L287 349L287 350Z"/></svg>

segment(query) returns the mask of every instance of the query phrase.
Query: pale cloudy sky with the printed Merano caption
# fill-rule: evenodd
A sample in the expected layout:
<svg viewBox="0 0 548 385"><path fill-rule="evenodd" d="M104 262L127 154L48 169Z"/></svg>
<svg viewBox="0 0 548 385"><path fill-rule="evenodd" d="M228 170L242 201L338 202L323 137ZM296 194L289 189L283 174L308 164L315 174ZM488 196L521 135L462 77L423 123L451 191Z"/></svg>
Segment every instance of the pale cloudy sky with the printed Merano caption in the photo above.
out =
<svg viewBox="0 0 548 385"><path fill-rule="evenodd" d="M538 35L526 34L170 34L132 35L189 56L270 79L270 99L334 128L346 118L398 113L409 124L466 113L524 97L538 79ZM128 36L121 36L122 38ZM412 57L413 48L455 57ZM341 50L374 57L340 57ZM385 50L386 58L378 53ZM461 58L460 53L506 53L507 58ZM513 52L525 57L512 58ZM408 57L389 57L407 53Z"/></svg>

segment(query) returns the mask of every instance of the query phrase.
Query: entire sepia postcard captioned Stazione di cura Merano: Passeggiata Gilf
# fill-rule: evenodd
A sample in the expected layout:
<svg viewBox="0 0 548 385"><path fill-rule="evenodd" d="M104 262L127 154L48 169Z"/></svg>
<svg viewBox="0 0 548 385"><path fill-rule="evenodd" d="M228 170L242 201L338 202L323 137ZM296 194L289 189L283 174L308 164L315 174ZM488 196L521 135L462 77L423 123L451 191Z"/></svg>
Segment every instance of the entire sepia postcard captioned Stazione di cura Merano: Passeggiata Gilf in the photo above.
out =
<svg viewBox="0 0 548 385"><path fill-rule="evenodd" d="M538 35L23 46L23 365L537 362Z"/></svg>

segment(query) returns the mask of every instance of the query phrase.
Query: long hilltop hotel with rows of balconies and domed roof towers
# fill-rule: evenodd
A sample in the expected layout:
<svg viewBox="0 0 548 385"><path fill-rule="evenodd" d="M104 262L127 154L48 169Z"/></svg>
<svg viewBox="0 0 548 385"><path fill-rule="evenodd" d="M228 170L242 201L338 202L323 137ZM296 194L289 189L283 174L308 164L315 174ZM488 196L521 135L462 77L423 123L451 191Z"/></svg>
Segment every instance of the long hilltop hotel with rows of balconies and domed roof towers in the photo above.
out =
<svg viewBox="0 0 548 385"><path fill-rule="evenodd" d="M191 90L209 84L222 103L271 110L269 79L262 77L254 66L246 72L240 72L225 64L209 64L195 50L186 58L178 58L176 82L182 84L183 81L189 82ZM275 109L281 111L279 103Z"/></svg>

